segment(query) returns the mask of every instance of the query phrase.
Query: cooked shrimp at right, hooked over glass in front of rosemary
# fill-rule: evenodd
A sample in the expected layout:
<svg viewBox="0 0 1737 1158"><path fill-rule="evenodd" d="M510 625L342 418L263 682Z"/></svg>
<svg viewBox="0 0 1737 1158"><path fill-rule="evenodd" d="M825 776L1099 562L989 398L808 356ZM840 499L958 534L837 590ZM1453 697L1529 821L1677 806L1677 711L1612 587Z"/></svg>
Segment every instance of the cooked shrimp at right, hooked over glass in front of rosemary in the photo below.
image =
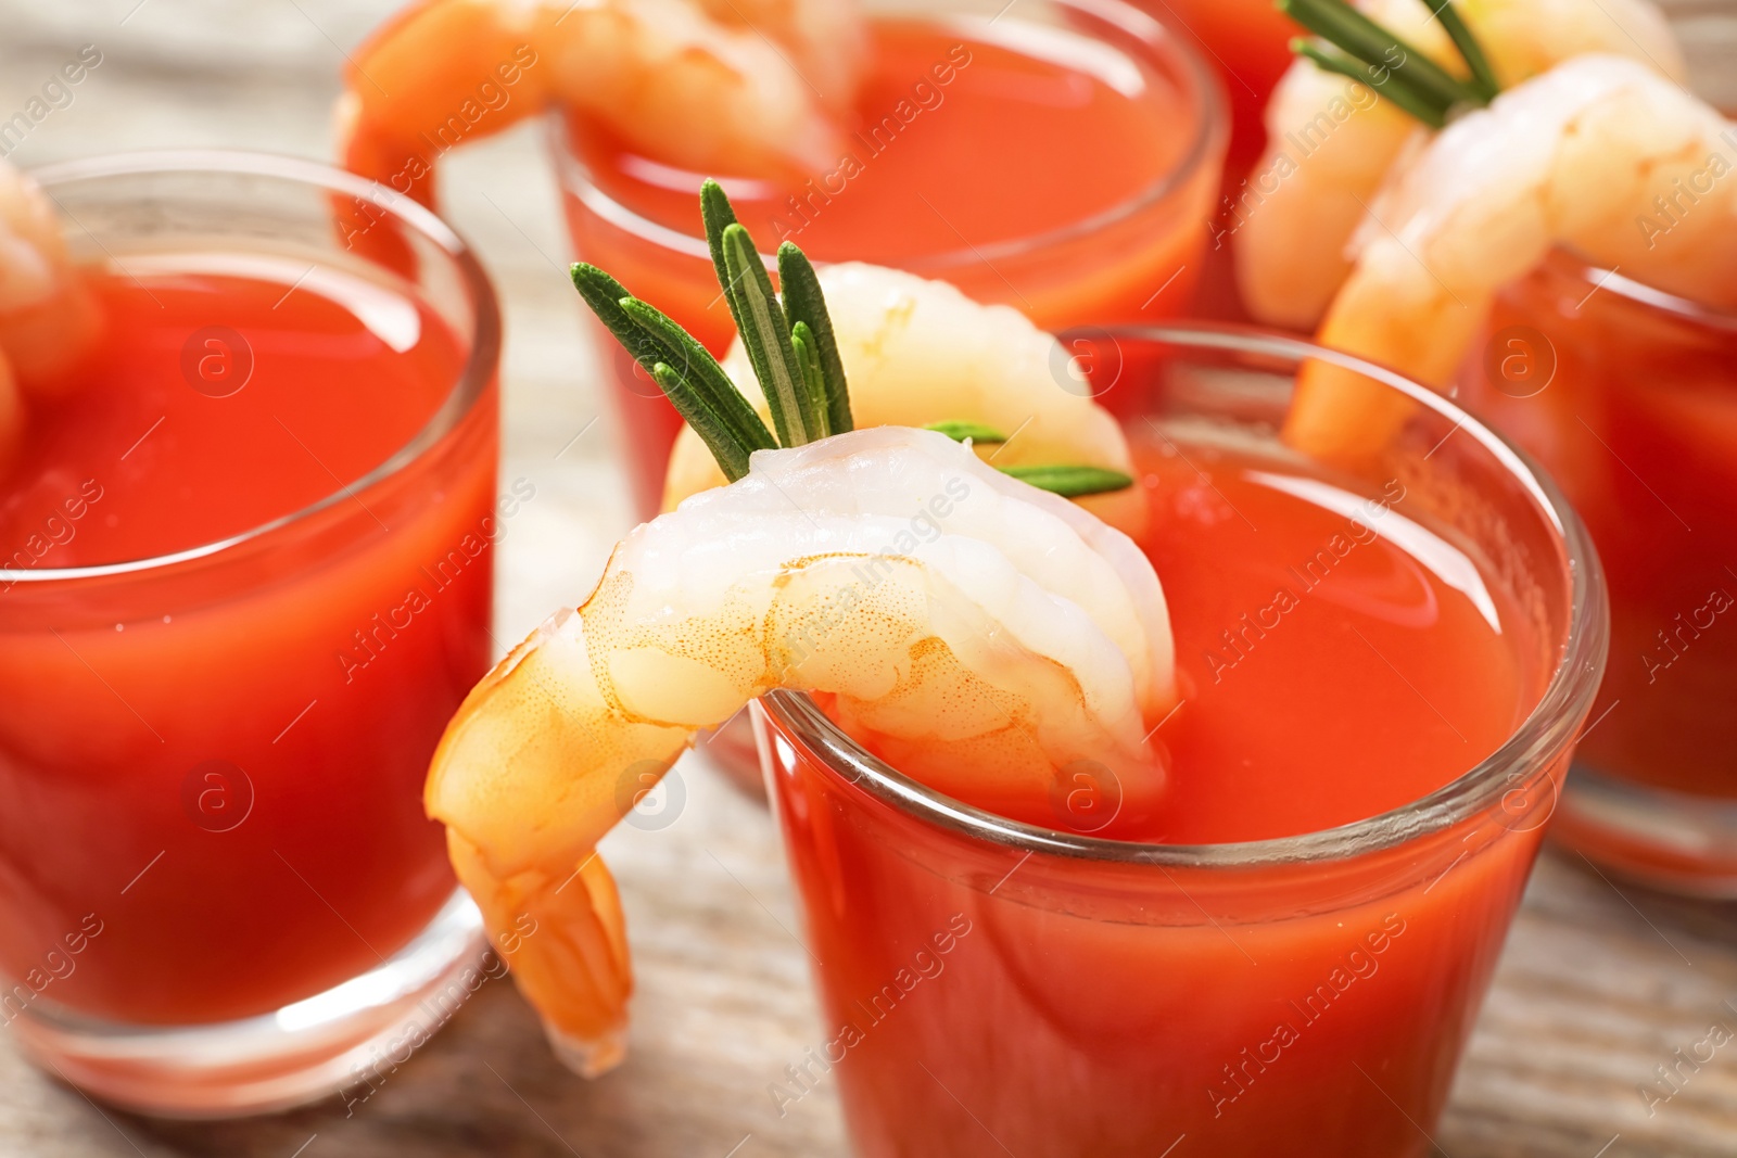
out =
<svg viewBox="0 0 1737 1158"><path fill-rule="evenodd" d="M1496 290L1567 247L1709 306L1737 306L1737 135L1713 108L1626 57L1582 56L1449 125L1360 231L1320 342L1445 387ZM1403 420L1324 365L1287 436L1374 446Z"/></svg>

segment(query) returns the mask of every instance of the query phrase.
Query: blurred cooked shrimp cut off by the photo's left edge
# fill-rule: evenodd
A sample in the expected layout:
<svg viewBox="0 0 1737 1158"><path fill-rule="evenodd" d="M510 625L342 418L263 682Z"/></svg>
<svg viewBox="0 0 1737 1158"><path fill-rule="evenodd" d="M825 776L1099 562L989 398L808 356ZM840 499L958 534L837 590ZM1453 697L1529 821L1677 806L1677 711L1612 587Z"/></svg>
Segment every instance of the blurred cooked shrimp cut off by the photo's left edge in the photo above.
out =
<svg viewBox="0 0 1737 1158"><path fill-rule="evenodd" d="M76 276L47 194L0 161L0 465L24 432L26 401L69 385L101 314Z"/></svg>

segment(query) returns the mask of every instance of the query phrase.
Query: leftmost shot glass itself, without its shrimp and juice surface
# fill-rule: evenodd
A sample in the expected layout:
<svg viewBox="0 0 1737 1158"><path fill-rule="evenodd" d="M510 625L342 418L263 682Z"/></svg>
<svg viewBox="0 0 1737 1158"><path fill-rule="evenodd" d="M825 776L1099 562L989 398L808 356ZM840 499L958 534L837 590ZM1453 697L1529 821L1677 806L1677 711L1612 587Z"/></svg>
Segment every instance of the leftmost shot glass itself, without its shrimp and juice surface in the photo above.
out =
<svg viewBox="0 0 1737 1158"><path fill-rule="evenodd" d="M420 429L304 509L155 557L0 563L0 1017L49 1073L135 1111L328 1095L401 1061L486 969L420 790L490 660L495 295L441 220L321 165L142 153L36 177L82 264L306 266L287 290L340 281L406 349L443 326L459 351ZM186 349L170 333L132 356L167 380L191 349L188 389L212 398L281 342L339 340L195 321ZM92 521L118 502L83 498Z"/></svg>

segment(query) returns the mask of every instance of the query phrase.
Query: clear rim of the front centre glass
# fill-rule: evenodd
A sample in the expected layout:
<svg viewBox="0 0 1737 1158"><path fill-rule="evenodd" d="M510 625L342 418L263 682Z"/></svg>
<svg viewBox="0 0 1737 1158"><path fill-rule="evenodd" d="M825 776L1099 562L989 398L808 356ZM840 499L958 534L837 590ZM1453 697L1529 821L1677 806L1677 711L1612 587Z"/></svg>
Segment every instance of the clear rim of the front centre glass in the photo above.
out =
<svg viewBox="0 0 1737 1158"><path fill-rule="evenodd" d="M829 771L907 816L968 839L1023 851L1027 856L1044 852L1103 863L1228 870L1343 861L1426 839L1497 804L1506 792L1513 790L1511 773L1515 769L1544 767L1553 753L1567 748L1591 708L1603 677L1608 646L1607 592L1598 556L1579 516L1556 483L1522 450L1468 415L1447 396L1436 394L1398 372L1315 345L1304 339L1252 326L1193 321L1091 326L1070 333L1091 333L1117 342L1162 342L1193 349L1266 354L1287 361L1327 361L1400 391L1450 422L1450 434L1464 432L1476 439L1530 493L1541 517L1556 530L1563 545L1563 564L1570 580L1567 639L1560 646L1558 661L1544 693L1496 752L1435 792L1348 825L1266 840L1150 844L1027 825L955 800L905 776L858 747L806 693L783 689L766 693L759 701L764 710L787 726L815 755L822 757Z"/></svg>

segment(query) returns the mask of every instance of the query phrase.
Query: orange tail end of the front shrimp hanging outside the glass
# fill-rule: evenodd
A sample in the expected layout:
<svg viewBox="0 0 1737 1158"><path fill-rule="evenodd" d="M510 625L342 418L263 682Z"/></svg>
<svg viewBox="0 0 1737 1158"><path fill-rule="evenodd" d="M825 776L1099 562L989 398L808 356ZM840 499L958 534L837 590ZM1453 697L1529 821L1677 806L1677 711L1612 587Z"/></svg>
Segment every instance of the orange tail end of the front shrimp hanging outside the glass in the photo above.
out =
<svg viewBox="0 0 1737 1158"><path fill-rule="evenodd" d="M634 988L598 840L691 740L620 719L591 668L584 615L565 609L483 677L434 753L424 804L446 825L459 882L551 1043L585 1076L620 1061Z"/></svg>

